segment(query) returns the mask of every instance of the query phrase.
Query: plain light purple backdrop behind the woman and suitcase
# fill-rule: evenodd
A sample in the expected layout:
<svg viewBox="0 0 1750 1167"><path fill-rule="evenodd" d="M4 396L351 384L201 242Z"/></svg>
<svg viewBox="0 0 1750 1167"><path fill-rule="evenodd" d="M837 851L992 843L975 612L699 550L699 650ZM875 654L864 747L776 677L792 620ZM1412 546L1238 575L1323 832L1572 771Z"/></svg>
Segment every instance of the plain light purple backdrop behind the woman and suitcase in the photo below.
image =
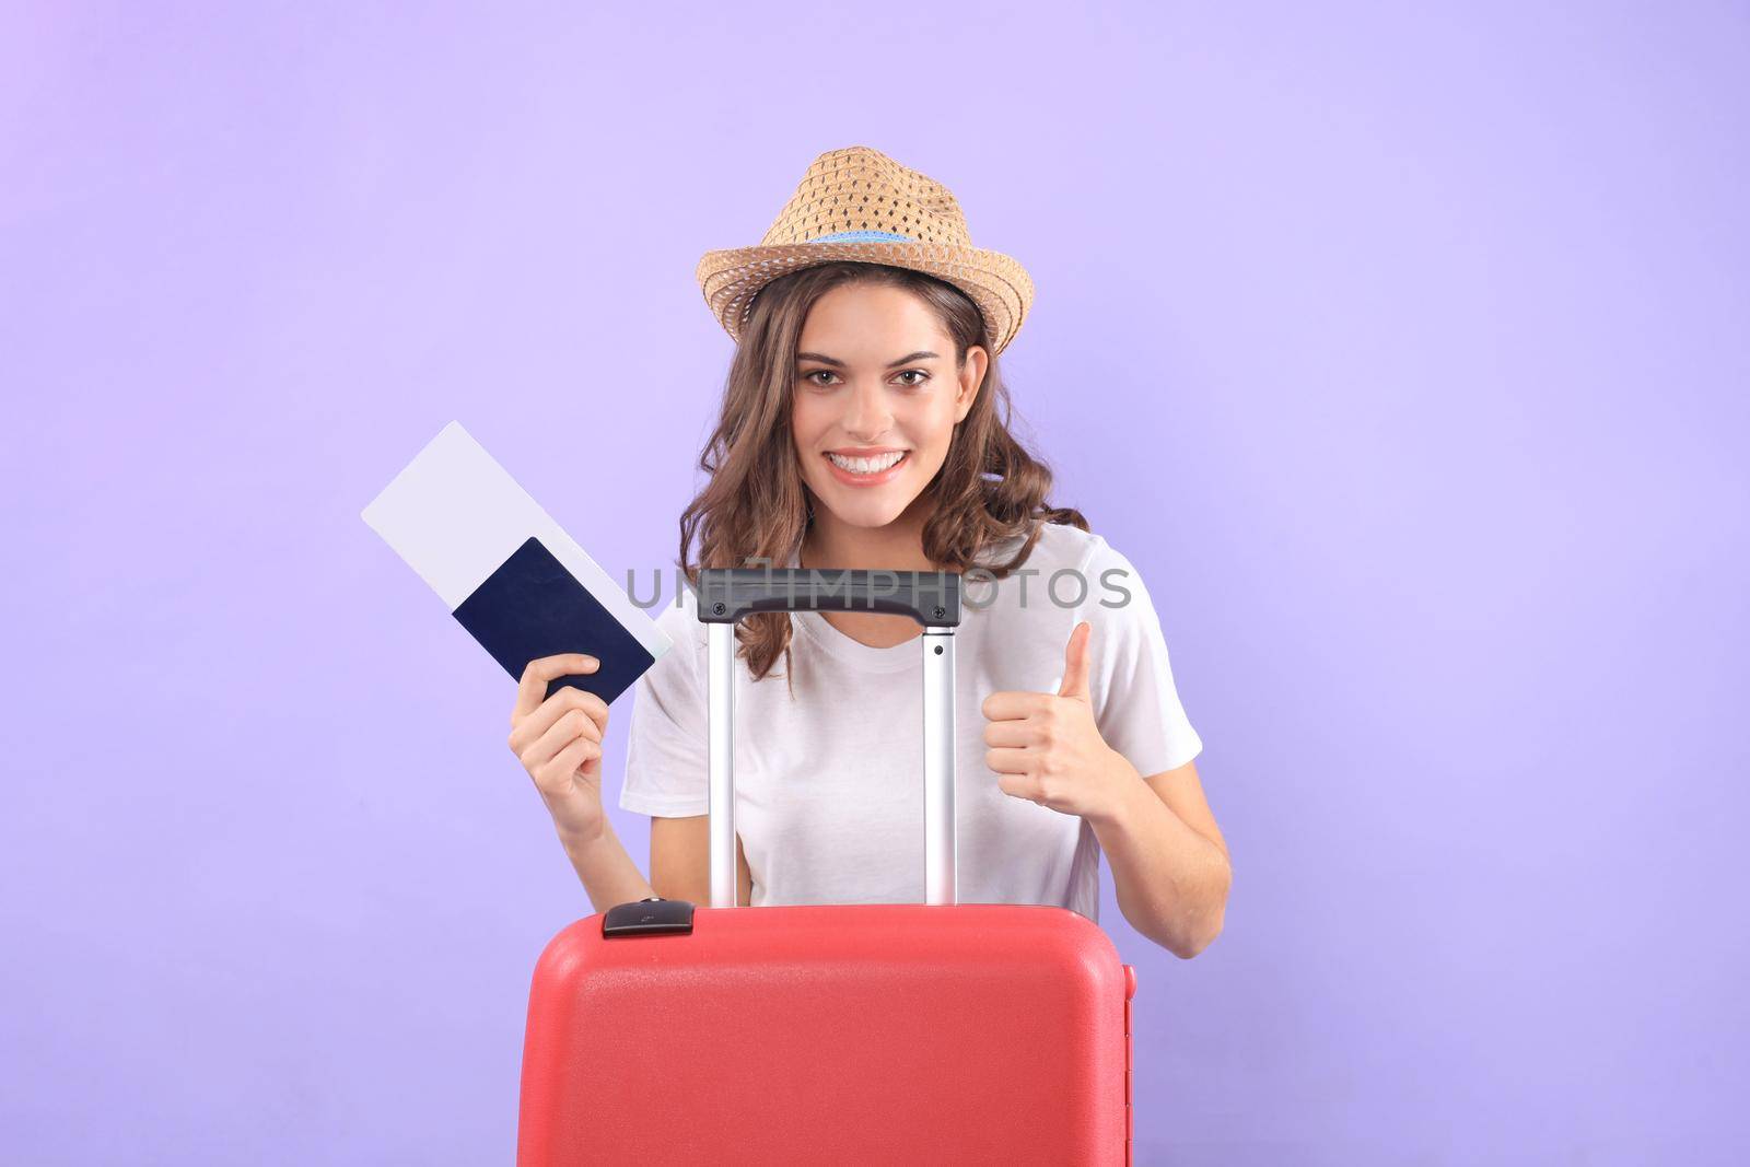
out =
<svg viewBox="0 0 1750 1167"><path fill-rule="evenodd" d="M1208 744L1227 933L1104 877L1139 1162L1743 1162L1746 79L1741 3L9 7L5 1158L509 1160L590 906L359 509L460 418L667 562L693 264L866 143L1032 271Z"/></svg>

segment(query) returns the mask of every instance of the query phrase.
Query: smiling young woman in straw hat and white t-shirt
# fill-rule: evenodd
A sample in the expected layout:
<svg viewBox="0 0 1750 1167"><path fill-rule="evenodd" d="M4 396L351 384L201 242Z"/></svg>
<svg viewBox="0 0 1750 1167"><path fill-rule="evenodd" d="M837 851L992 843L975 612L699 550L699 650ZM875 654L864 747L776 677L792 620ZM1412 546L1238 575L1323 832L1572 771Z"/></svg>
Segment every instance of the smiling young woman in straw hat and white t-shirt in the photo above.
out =
<svg viewBox="0 0 1750 1167"><path fill-rule="evenodd" d="M957 570L961 903L1124 917L1181 957L1222 931L1230 866L1148 590L1010 434L996 357L1032 297L971 247L945 187L866 147L822 154L765 241L707 254L737 339L681 569ZM684 591L684 590L682 590ZM607 707L536 660L511 751L597 910L709 903L705 626L691 591L637 684L620 805L651 815L651 878L602 812ZM768 612L737 639L740 903L924 899L920 672L905 616ZM782 663L780 663L782 661Z"/></svg>

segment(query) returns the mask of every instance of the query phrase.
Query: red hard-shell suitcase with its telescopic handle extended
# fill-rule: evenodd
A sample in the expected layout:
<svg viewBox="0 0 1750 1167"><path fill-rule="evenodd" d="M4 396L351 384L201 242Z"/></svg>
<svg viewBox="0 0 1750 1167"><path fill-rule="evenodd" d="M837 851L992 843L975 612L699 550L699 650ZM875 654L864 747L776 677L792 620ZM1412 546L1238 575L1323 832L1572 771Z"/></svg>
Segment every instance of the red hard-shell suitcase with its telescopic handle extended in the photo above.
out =
<svg viewBox="0 0 1750 1167"><path fill-rule="evenodd" d="M1129 1164L1134 971L1068 908L954 899L952 572L718 569L710 899L621 905L548 943L518 1164ZM735 908L735 621L924 625L928 905Z"/></svg>

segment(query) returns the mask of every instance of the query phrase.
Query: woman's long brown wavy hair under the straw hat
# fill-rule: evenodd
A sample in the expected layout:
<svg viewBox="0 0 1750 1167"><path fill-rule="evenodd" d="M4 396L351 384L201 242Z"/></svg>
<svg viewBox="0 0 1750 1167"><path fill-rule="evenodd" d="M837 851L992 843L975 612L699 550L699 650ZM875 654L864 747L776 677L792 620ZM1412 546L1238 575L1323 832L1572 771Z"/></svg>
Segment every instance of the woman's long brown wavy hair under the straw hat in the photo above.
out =
<svg viewBox="0 0 1750 1167"><path fill-rule="evenodd" d="M859 282L903 287L922 299L954 338L957 369L966 367L973 345L990 353L978 304L952 283L910 268L828 262L760 289L730 362L716 430L698 455L709 481L681 513L679 569L691 586L702 567L747 567L749 560L782 567L802 549L814 507L789 430L796 346L814 303L830 289ZM1010 432L1010 418L1008 388L990 353L971 411L954 427L948 455L924 488L936 500L924 521L924 555L942 570L976 565L1003 579L1027 562L1040 523L1088 530L1074 507L1046 504L1052 471ZM980 560L990 544L1015 535L1026 535L1026 542L1008 562ZM754 681L780 654L789 675L789 628L786 612L760 612L740 623L738 656Z"/></svg>

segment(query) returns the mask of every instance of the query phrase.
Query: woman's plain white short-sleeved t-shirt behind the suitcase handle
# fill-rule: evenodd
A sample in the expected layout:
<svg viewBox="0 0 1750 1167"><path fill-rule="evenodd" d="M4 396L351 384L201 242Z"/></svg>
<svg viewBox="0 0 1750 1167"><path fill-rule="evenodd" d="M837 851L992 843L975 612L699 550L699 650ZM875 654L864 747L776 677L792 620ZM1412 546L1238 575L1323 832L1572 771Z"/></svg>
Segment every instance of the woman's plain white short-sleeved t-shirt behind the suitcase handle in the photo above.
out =
<svg viewBox="0 0 1750 1167"><path fill-rule="evenodd" d="M1064 570L1074 574L1054 583ZM709 808L707 626L681 591L658 616L674 647L635 686L620 791L621 808L660 817ZM1087 619L1088 691L1106 744L1141 775L1194 759L1202 740L1174 689L1148 590L1102 537L1045 523L1020 572L973 574L964 600L954 639L957 899L1057 905L1097 922L1094 829L998 787L982 705L999 689L1055 693L1069 632ZM735 822L751 903L922 903L920 640L872 647L819 612L791 612L791 625L794 698L782 656L758 682L746 660L735 668Z"/></svg>

